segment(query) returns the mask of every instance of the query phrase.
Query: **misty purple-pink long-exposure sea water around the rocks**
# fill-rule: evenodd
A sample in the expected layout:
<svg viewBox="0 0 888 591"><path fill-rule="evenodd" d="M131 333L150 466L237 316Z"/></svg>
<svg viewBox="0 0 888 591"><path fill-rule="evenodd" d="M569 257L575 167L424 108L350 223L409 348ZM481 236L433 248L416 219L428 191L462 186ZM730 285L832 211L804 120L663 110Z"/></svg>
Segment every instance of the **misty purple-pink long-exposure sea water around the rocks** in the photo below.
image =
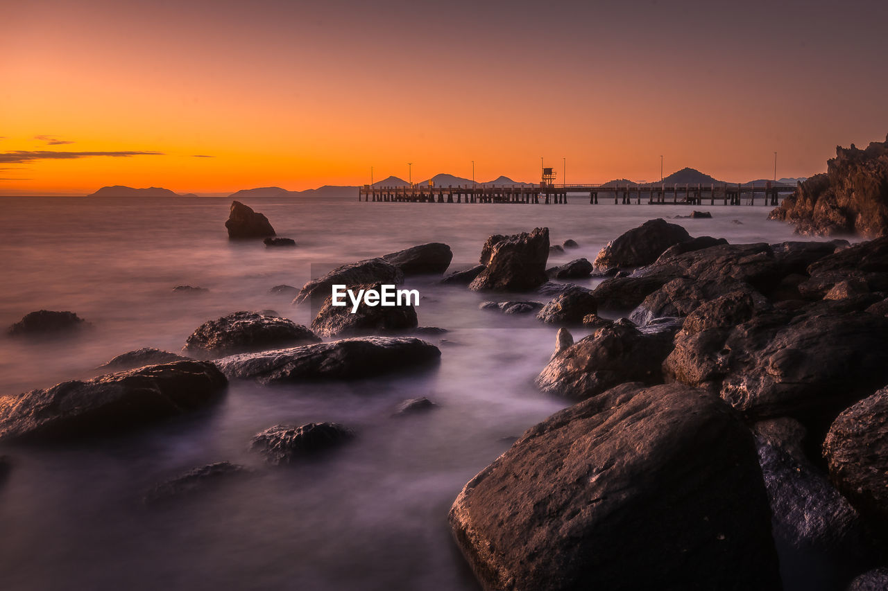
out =
<svg viewBox="0 0 888 591"><path fill-rule="evenodd" d="M307 325L307 306L268 289L301 287L313 268L432 240L448 243L454 265L466 267L489 234L543 225L552 243L572 238L581 245L551 263L592 260L607 240L646 219L691 210L590 206L579 196L551 206L348 197L250 200L278 235L298 243L279 249L227 240L228 199L0 200L0 326L42 308L91 322L81 335L50 342L13 340L4 331L0 395L98 374L94 367L140 347L178 351L203 321L232 311L274 309ZM793 238L787 226L766 221L769 208L760 205L696 209L714 218L676 220L692 235ZM171 292L183 284L210 291ZM490 297L464 288L429 280L408 287L424 296L420 325L449 329L432 371L349 383L232 382L202 413L125 436L61 448L0 447L14 461L0 485L0 587L478 588L450 540L448 508L510 437L566 406L532 382L556 330L532 317L480 311ZM440 409L392 418L401 400L418 396ZM313 421L342 422L358 437L319 461L287 468L266 468L247 449L261 429ZM162 507L142 504L158 481L223 460L254 472Z"/></svg>

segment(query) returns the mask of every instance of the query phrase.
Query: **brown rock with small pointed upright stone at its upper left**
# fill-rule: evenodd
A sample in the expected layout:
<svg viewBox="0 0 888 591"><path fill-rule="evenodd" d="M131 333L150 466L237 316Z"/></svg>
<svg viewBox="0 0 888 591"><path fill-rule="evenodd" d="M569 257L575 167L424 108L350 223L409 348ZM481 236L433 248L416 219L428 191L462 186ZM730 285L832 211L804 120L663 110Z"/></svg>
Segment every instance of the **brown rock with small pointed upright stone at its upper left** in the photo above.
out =
<svg viewBox="0 0 888 591"><path fill-rule="evenodd" d="M613 323L557 353L536 377L544 392L584 400L624 382L662 382L672 335L643 335Z"/></svg>

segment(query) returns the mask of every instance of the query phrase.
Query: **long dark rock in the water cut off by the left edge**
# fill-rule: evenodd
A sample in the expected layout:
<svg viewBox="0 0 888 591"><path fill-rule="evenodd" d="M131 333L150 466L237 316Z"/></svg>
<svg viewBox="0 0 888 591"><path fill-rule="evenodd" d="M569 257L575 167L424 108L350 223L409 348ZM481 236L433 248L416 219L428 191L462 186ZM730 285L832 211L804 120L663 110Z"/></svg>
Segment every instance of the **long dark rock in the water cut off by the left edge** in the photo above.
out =
<svg viewBox="0 0 888 591"><path fill-rule="evenodd" d="M91 436L208 404L226 378L203 361L177 361L0 399L0 439Z"/></svg>

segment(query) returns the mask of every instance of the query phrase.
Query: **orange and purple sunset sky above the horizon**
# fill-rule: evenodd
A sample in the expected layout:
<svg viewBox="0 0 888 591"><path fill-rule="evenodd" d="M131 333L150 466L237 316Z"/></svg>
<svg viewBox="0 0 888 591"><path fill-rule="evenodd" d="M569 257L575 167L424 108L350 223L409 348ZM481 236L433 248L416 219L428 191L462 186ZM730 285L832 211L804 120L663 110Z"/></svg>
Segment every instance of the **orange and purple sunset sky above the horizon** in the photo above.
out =
<svg viewBox="0 0 888 591"><path fill-rule="evenodd" d="M888 3L4 2L0 194L809 176L888 132Z"/></svg>

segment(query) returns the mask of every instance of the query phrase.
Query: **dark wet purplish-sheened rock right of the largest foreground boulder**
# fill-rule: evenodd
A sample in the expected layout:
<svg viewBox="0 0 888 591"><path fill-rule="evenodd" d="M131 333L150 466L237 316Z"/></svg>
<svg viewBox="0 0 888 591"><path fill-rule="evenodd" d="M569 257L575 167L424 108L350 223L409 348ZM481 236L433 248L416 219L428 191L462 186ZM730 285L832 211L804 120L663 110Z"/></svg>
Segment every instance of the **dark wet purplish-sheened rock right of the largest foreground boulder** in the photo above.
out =
<svg viewBox="0 0 888 591"><path fill-rule="evenodd" d="M794 440L782 439L781 429L789 430ZM814 570L793 572L802 579L797 584L816 581L819 588L841 587L876 556L860 516L801 452L805 428L800 423L770 420L756 423L754 430L773 535L777 547L783 548L781 562L808 563Z"/></svg>

